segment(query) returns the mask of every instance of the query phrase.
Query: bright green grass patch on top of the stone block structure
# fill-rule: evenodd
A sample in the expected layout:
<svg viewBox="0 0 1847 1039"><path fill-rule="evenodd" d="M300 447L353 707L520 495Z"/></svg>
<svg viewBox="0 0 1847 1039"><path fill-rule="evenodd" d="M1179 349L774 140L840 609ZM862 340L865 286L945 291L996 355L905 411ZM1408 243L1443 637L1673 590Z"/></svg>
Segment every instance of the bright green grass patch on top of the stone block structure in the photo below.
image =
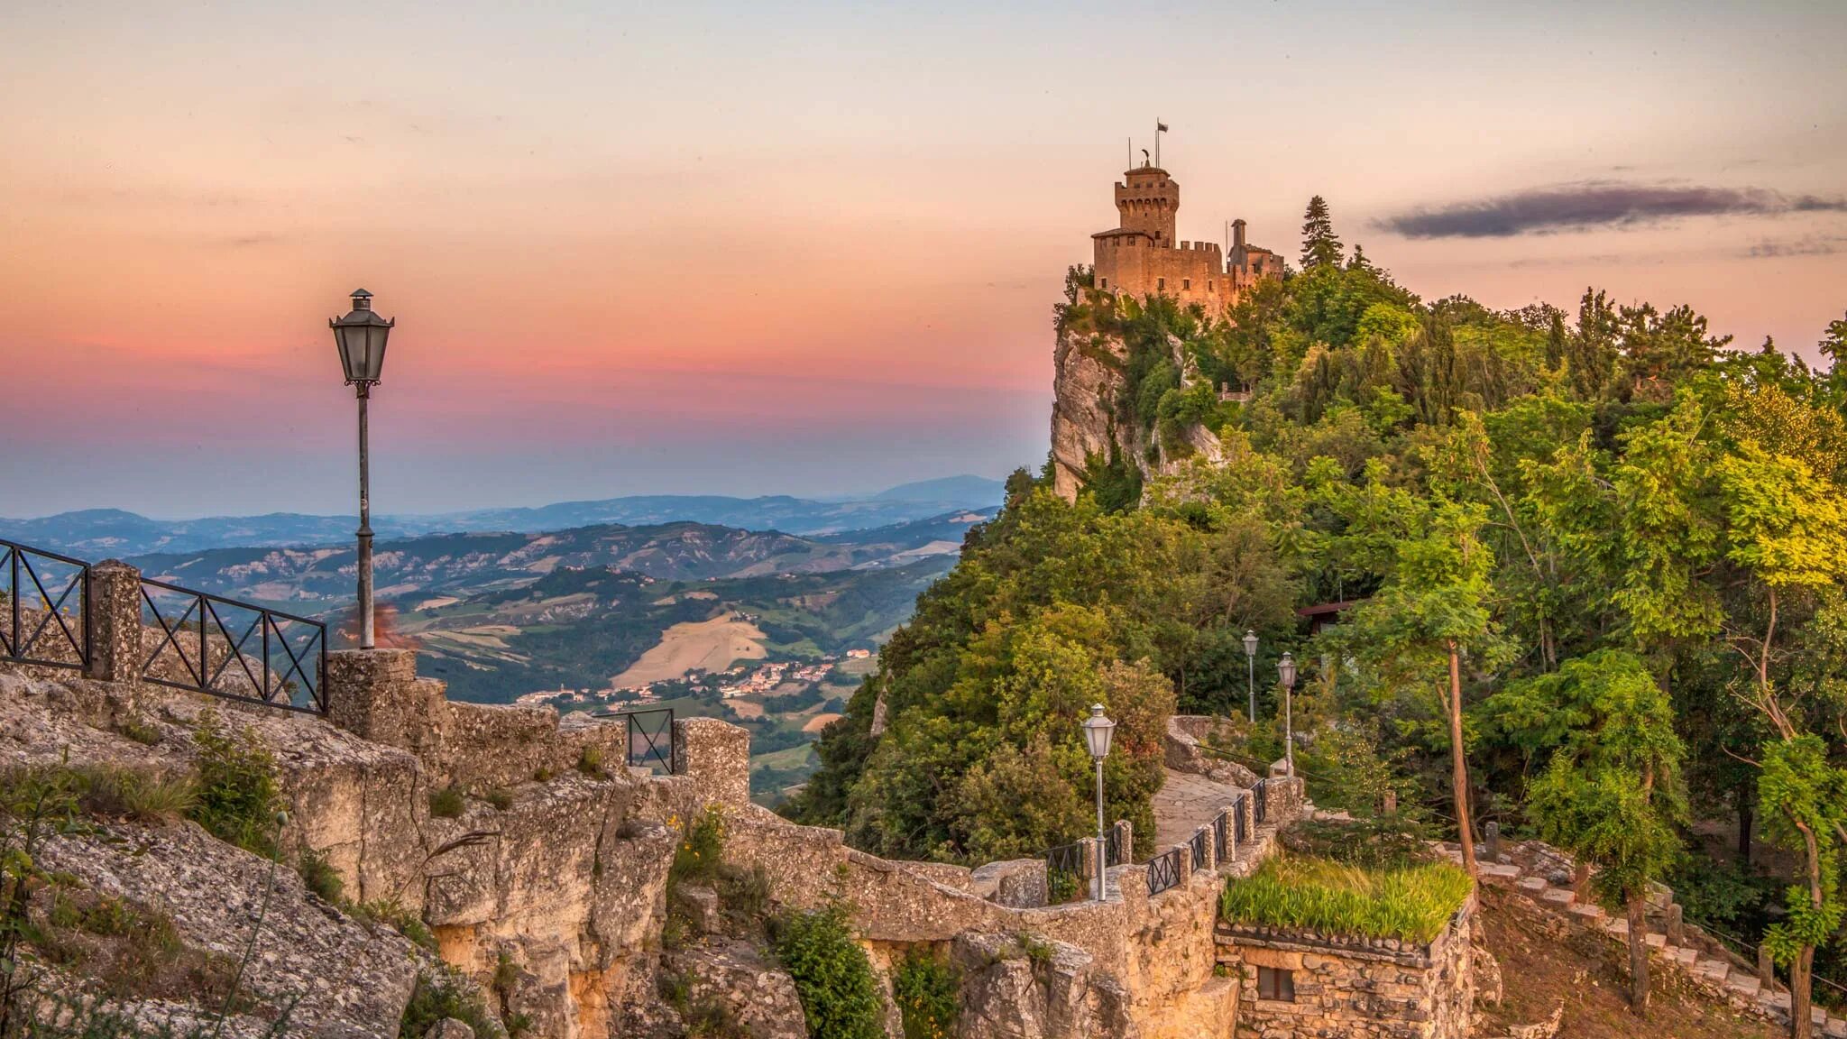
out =
<svg viewBox="0 0 1847 1039"><path fill-rule="evenodd" d="M1219 895L1219 915L1258 926L1428 943L1463 906L1472 882L1448 862L1363 869L1278 854Z"/></svg>

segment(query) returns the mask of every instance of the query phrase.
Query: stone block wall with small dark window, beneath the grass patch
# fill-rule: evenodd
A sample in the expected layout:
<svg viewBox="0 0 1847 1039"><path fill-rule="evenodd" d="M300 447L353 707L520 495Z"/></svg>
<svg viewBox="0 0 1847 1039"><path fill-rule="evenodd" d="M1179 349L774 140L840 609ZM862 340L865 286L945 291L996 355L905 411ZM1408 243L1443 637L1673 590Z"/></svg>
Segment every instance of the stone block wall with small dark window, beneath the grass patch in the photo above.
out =
<svg viewBox="0 0 1847 1039"><path fill-rule="evenodd" d="M1219 963L1241 985L1237 1022L1265 1039L1465 1039L1474 913L1470 895L1430 945L1221 923ZM1289 971L1295 998L1258 998L1258 969Z"/></svg>

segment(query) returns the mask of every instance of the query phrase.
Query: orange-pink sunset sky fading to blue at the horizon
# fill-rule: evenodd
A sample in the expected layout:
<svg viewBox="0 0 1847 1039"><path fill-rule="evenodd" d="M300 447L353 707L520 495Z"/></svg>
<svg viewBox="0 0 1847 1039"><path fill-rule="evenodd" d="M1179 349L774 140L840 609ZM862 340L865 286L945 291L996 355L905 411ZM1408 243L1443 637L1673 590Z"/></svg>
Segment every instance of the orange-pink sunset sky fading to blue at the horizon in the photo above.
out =
<svg viewBox="0 0 1847 1039"><path fill-rule="evenodd" d="M349 510L355 287L375 510L1036 466L1156 116L1180 237L1847 312L1834 0L519 7L0 6L0 516Z"/></svg>

